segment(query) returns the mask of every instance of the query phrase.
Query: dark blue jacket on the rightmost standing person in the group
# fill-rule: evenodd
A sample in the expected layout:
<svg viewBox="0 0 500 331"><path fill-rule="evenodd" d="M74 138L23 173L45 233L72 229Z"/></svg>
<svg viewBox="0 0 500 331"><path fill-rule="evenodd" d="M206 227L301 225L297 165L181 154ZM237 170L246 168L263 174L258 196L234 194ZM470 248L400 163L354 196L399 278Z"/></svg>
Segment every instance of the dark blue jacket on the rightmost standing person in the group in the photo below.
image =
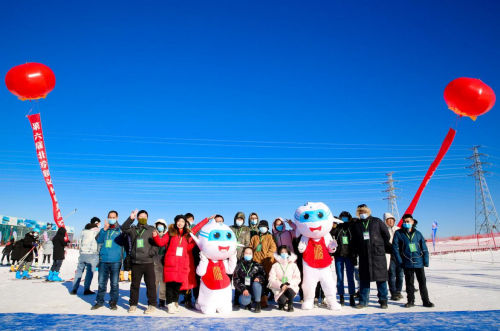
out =
<svg viewBox="0 0 500 331"><path fill-rule="evenodd" d="M410 251L410 243L415 244L415 252ZM402 228L394 234L392 242L394 258L403 269L418 269L429 266L429 250L422 234Z"/></svg>

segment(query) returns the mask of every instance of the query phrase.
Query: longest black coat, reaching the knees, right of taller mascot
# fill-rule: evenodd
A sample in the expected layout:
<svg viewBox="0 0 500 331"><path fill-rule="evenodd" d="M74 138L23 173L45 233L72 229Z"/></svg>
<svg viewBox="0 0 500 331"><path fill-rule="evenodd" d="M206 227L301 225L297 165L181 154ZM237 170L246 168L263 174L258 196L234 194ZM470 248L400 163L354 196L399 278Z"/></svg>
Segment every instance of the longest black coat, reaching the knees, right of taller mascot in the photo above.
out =
<svg viewBox="0 0 500 331"><path fill-rule="evenodd" d="M369 222L369 223L368 223ZM367 225L368 223L368 225ZM370 239L363 239L365 226ZM388 280L386 253L392 252L390 234L381 219L368 217L359 220L351 227L353 232L354 253L359 256L359 278L366 282L386 282Z"/></svg>

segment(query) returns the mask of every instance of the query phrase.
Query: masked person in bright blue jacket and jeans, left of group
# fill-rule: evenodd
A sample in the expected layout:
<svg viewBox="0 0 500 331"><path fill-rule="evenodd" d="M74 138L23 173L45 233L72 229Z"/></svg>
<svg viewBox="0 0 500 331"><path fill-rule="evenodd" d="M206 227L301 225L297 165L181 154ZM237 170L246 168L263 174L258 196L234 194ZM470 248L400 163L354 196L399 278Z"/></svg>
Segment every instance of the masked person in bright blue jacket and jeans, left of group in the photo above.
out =
<svg viewBox="0 0 500 331"><path fill-rule="evenodd" d="M123 260L123 246L125 245L125 236L118 224L118 212L111 210L108 218L104 222L104 227L99 231L97 244L101 245L99 251L99 287L97 289L96 303L91 310L97 310L104 307L104 296L109 291L109 309L118 310L118 280L120 266Z"/></svg>

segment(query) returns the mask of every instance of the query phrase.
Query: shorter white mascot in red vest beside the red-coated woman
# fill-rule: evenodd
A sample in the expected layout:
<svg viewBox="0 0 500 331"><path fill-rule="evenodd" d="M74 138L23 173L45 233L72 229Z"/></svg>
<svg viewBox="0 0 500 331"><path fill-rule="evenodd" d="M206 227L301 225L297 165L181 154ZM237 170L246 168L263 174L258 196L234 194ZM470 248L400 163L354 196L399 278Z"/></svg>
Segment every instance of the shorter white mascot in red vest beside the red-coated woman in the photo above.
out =
<svg viewBox="0 0 500 331"><path fill-rule="evenodd" d="M229 313L233 310L231 280L227 276L236 268L236 237L224 223L211 220L201 228L197 238L200 264L196 273L201 277L196 309L203 314Z"/></svg>

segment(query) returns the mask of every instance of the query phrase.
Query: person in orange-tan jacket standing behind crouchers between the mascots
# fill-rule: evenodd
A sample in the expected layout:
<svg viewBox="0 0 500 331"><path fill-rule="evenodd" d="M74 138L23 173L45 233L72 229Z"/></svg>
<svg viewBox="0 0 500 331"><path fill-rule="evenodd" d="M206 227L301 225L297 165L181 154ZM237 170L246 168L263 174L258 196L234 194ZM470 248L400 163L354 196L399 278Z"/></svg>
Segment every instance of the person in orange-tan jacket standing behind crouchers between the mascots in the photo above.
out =
<svg viewBox="0 0 500 331"><path fill-rule="evenodd" d="M273 236L269 233L269 224L262 220L259 222L259 234L252 237L250 247L253 249L253 260L260 263L266 274L269 274L274 264L274 253L276 252L276 243ZM261 305L267 307L267 288L264 289Z"/></svg>

